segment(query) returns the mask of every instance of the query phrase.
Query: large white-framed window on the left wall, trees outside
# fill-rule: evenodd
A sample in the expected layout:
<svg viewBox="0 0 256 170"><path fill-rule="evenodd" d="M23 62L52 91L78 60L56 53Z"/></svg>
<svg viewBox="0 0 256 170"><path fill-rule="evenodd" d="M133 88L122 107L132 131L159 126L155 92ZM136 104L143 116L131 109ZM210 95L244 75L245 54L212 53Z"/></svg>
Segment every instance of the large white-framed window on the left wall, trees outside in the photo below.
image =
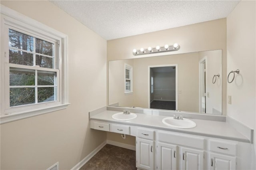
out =
<svg viewBox="0 0 256 170"><path fill-rule="evenodd" d="M1 123L66 108L67 36L4 6L1 20Z"/></svg>

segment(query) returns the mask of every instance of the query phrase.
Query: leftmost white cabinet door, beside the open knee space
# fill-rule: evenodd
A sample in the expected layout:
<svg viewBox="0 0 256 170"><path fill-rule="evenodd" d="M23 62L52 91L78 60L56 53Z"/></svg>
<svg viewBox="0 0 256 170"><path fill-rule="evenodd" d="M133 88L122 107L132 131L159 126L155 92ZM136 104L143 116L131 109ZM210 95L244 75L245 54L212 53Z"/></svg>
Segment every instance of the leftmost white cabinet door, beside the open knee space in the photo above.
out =
<svg viewBox="0 0 256 170"><path fill-rule="evenodd" d="M137 138L136 140L137 168L154 169L154 141Z"/></svg>

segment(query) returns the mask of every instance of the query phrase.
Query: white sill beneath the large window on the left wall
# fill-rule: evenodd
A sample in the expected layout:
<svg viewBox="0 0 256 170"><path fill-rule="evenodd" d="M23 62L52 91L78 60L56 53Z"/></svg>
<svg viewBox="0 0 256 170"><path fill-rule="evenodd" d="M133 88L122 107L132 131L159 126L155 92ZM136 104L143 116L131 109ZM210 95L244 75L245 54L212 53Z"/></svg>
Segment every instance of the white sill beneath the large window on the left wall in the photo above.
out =
<svg viewBox="0 0 256 170"><path fill-rule="evenodd" d="M22 112L22 113L2 115L0 117L0 124L12 122L12 121L18 121L20 119L25 119L28 117L33 117L33 116L42 115L45 113L50 113L50 112L66 109L68 107L68 105L70 105L70 103L57 105L57 106L53 106L53 107L42 108L42 109L30 110L30 111L26 111L26 112Z"/></svg>

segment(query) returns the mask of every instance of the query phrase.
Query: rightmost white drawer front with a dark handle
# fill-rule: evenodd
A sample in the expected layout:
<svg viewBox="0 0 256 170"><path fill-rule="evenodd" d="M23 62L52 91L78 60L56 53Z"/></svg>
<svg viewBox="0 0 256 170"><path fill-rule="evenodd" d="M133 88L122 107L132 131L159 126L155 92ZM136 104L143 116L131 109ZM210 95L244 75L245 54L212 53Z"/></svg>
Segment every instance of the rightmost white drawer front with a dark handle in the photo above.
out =
<svg viewBox="0 0 256 170"><path fill-rule="evenodd" d="M209 140L209 150L213 152L219 152L222 154L236 156L236 145L236 143L232 142Z"/></svg>

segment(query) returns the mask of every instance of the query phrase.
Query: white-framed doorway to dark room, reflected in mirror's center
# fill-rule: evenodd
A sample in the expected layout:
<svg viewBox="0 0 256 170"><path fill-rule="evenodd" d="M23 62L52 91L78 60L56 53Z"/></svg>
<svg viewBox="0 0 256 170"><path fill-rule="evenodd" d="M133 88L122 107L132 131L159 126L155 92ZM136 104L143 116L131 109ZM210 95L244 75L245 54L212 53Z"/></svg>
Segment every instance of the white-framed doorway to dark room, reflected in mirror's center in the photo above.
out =
<svg viewBox="0 0 256 170"><path fill-rule="evenodd" d="M178 64L148 66L151 109L178 110Z"/></svg>

